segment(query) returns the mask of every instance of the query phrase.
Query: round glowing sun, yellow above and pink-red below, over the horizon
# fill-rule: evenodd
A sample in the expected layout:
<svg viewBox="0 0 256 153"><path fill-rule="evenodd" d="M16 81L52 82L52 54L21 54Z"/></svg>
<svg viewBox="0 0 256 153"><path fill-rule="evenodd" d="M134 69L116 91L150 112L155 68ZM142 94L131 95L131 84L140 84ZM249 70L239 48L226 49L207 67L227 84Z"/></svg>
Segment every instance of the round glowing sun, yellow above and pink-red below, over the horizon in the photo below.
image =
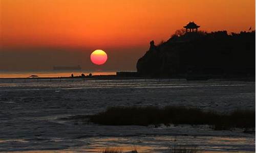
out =
<svg viewBox="0 0 256 153"><path fill-rule="evenodd" d="M96 65L104 64L107 59L108 55L106 55L106 53L101 49L94 50L91 54L91 61Z"/></svg>

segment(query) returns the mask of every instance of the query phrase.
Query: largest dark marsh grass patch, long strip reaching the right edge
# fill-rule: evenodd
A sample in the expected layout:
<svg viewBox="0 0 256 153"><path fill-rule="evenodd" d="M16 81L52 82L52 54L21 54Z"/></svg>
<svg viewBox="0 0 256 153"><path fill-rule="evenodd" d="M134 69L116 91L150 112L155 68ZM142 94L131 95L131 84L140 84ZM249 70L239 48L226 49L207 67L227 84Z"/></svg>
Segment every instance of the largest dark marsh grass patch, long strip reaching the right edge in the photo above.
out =
<svg viewBox="0 0 256 153"><path fill-rule="evenodd" d="M173 107L111 107L89 121L104 125L150 125L150 124L208 124L215 130L229 130L232 127L255 127L255 111L236 110L221 114L206 112L197 108Z"/></svg>

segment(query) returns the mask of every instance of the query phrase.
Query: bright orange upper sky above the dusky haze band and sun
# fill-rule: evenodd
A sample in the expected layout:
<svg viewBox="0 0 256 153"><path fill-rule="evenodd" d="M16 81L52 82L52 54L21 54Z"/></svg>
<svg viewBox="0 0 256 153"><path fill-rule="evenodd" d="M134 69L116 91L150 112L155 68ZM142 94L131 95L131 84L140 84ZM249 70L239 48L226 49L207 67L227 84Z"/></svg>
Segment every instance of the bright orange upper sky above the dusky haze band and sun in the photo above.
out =
<svg viewBox="0 0 256 153"><path fill-rule="evenodd" d="M166 40L188 21L201 30L255 28L254 0L1 0L3 45L106 47Z"/></svg>

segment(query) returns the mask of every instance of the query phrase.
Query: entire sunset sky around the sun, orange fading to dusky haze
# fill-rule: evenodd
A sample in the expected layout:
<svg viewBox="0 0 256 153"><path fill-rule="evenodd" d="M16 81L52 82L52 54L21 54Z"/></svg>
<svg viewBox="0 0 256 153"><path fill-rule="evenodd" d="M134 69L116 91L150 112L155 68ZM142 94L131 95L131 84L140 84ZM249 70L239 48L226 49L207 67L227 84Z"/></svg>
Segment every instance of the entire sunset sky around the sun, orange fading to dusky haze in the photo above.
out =
<svg viewBox="0 0 256 153"><path fill-rule="evenodd" d="M0 0L0 70L135 70L149 42L167 40L189 21L199 30L255 29L254 0ZM109 60L97 67L95 49Z"/></svg>

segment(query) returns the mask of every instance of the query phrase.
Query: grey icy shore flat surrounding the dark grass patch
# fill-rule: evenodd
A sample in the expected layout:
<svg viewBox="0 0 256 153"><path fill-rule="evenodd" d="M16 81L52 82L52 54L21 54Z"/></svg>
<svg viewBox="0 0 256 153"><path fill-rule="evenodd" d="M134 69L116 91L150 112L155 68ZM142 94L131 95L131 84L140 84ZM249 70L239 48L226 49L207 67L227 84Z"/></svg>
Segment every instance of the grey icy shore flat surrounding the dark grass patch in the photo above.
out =
<svg viewBox="0 0 256 153"><path fill-rule="evenodd" d="M255 108L255 82L186 80L0 80L0 151L166 152L173 145L203 151L255 151L255 133L207 125L108 126L84 120L111 106L188 106L220 113Z"/></svg>

